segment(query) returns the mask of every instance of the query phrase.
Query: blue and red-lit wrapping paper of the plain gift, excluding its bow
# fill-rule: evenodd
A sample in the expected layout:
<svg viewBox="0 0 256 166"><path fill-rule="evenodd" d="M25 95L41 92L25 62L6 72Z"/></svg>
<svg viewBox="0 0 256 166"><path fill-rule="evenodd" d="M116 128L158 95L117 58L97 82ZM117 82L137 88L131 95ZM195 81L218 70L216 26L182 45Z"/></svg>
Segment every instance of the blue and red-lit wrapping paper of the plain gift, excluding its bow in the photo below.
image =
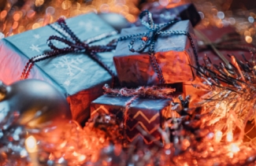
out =
<svg viewBox="0 0 256 166"><path fill-rule="evenodd" d="M147 32L145 27L124 28L121 36L135 35ZM179 21L163 31L188 31L191 34L195 47L197 42L189 20ZM137 87L158 84L157 73L150 64L148 48L142 53L132 53L128 49L131 39L117 43L117 49L113 57L117 69L117 76L123 87ZM140 43L139 43L140 42ZM138 48L141 41L135 42ZM194 79L195 71L190 65L195 66L195 54L187 35L158 35L154 46L155 57L158 60L165 83L182 83ZM194 72L194 73L193 73Z"/></svg>

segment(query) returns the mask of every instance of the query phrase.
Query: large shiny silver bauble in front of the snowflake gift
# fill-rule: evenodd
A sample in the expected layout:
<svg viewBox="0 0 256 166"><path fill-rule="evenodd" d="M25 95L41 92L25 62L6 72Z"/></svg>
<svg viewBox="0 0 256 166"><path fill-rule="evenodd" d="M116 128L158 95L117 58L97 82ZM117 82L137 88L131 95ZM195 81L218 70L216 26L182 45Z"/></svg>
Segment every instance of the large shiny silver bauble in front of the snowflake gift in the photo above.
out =
<svg viewBox="0 0 256 166"><path fill-rule="evenodd" d="M30 128L54 127L72 118L65 96L37 79L10 86L0 82L0 126L11 116L16 124Z"/></svg>

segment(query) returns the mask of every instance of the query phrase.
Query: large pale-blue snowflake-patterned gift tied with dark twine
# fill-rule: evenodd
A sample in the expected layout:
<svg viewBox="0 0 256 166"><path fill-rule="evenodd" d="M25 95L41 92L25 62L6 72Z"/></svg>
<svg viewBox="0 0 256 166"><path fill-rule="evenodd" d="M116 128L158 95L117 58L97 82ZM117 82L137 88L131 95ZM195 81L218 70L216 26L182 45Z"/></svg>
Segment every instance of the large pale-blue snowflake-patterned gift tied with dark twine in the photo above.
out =
<svg viewBox="0 0 256 166"><path fill-rule="evenodd" d="M102 94L104 83L113 81L115 46L106 45L117 32L94 13L66 22L2 39L0 79L13 83L21 76L53 84L69 101L72 118L84 123L90 102Z"/></svg>

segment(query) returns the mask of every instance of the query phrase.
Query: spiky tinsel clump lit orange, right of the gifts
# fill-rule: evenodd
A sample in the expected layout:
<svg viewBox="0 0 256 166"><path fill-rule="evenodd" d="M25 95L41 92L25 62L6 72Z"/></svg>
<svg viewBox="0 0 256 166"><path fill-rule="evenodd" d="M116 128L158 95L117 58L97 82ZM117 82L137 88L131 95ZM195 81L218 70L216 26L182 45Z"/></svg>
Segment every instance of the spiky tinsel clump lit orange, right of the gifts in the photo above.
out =
<svg viewBox="0 0 256 166"><path fill-rule="evenodd" d="M239 131L236 139L241 140L247 123L254 120L254 55L251 62L244 56L243 61L239 61L235 55L228 56L229 68L223 64L214 65L213 68L210 61L198 68L199 75L207 80L205 84L211 88L210 93L202 96L206 100L202 101L202 105L205 105L206 113L211 110L213 119L223 121L222 125L218 125L218 130L225 135Z"/></svg>

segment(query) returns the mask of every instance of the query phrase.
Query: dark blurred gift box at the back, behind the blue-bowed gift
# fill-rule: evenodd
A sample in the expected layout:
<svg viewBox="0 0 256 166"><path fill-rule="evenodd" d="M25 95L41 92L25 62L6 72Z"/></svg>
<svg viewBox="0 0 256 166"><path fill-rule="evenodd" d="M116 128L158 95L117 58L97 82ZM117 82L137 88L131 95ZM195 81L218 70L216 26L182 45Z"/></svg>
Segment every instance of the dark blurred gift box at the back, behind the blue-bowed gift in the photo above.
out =
<svg viewBox="0 0 256 166"><path fill-rule="evenodd" d="M173 4L172 4L173 5ZM153 20L156 24L166 23L170 20L190 20L193 27L198 24L201 17L194 4L187 3L179 6L161 6L159 2L147 3L143 9L148 9L153 14ZM140 26L139 20L135 22Z"/></svg>

